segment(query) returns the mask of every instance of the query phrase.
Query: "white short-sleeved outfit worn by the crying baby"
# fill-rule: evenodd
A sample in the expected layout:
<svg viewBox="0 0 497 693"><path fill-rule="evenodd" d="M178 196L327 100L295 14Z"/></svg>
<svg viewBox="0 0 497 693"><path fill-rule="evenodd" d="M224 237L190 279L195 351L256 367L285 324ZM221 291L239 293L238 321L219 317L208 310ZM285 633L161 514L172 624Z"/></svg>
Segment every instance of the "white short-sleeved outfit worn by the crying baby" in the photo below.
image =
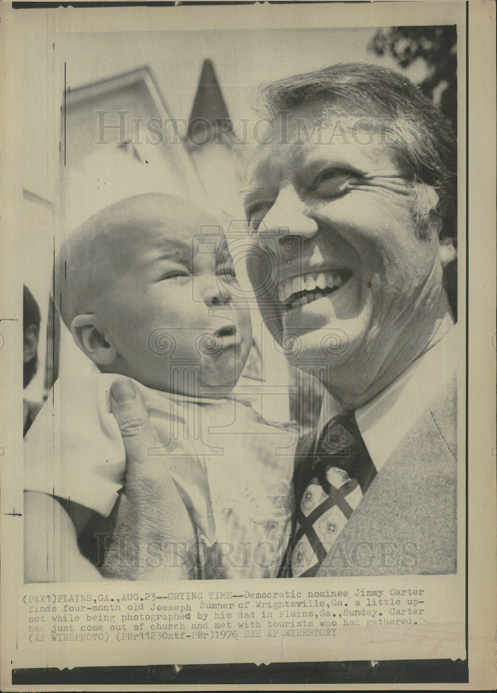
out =
<svg viewBox="0 0 497 693"><path fill-rule="evenodd" d="M59 378L25 440L25 489L107 517L123 487L124 446L110 411L114 374ZM245 396L143 395L164 459L199 538L223 554L225 577L276 577L293 512L297 434L257 414Z"/></svg>

